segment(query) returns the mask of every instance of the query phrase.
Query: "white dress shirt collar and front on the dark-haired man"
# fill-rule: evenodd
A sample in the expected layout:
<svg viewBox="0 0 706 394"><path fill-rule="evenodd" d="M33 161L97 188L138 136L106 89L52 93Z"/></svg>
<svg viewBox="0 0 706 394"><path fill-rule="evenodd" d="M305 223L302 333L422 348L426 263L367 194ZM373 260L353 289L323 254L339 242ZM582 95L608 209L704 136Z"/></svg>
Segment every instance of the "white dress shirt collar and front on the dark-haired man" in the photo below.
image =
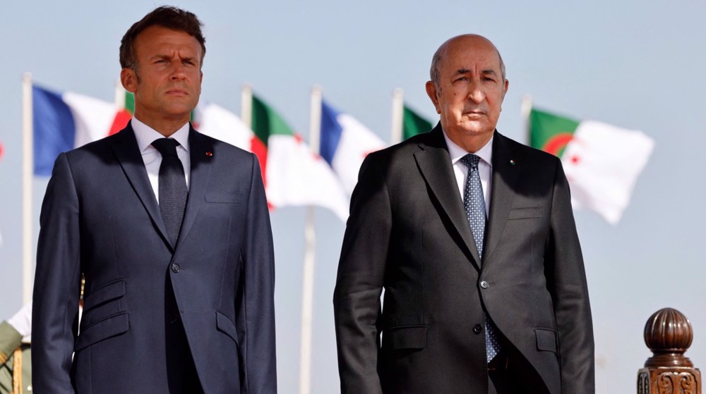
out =
<svg viewBox="0 0 706 394"><path fill-rule="evenodd" d="M152 147L152 141L164 138L157 130L150 128L133 117L131 125L137 138L137 146L142 154L142 161L147 169L147 176L150 178L152 190L155 191L157 202L160 201L160 166L162 165L162 154L157 148ZM179 142L177 146L177 156L184 166L184 176L186 176L186 190L189 190L189 173L191 173L191 158L189 157L189 122L186 122L176 133L169 135Z"/></svg>

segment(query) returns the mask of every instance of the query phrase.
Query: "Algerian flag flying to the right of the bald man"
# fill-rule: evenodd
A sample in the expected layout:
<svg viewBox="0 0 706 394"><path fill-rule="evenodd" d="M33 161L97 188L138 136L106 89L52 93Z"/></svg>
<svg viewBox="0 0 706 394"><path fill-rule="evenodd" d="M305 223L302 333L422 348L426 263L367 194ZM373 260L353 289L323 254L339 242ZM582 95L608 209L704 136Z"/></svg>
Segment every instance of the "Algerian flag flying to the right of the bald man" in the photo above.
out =
<svg viewBox="0 0 706 394"><path fill-rule="evenodd" d="M615 225L628 207L654 140L640 130L530 111L530 145L561 158L574 208Z"/></svg>

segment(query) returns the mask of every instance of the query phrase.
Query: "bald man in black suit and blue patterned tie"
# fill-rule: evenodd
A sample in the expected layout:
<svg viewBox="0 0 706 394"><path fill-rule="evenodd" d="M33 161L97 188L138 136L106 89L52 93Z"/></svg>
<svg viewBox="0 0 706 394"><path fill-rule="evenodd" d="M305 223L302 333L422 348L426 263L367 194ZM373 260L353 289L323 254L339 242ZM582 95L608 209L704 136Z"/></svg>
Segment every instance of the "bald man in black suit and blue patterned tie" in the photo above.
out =
<svg viewBox="0 0 706 394"><path fill-rule="evenodd" d="M449 39L426 82L441 122L361 166L334 294L342 393L594 392L568 183L497 132L507 90L488 39Z"/></svg>

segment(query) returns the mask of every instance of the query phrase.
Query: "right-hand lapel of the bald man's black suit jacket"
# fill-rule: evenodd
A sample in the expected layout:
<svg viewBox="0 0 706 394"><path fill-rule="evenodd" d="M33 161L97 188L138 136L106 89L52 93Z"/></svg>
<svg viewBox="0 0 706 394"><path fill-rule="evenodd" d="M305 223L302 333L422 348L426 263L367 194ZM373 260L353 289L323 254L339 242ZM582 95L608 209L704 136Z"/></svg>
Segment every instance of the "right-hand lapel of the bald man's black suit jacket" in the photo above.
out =
<svg viewBox="0 0 706 394"><path fill-rule="evenodd" d="M498 245L505 223L508 221L510 208L513 206L517 180L522 171L522 160L515 157L508 146L505 136L496 131L493 138L493 185L491 190L490 216L486 229L484 263Z"/></svg>

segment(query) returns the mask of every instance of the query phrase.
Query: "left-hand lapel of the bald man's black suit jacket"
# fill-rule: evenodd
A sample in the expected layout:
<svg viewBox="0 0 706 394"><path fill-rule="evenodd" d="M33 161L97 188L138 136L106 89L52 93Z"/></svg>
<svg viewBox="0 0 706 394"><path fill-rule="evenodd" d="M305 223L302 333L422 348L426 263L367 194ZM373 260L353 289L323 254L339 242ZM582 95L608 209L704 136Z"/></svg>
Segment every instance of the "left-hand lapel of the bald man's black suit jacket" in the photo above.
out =
<svg viewBox="0 0 706 394"><path fill-rule="evenodd" d="M466 211L463 209L461 195L458 192L456 178L451 165L451 157L443 138L441 125L429 133L429 143L419 144L420 150L414 153L419 171L424 176L426 184L429 185L448 219L453 223L454 228L463 240L468 252L472 255L473 264L476 269L480 269L480 258L478 250L473 240L471 227L468 224Z"/></svg>

